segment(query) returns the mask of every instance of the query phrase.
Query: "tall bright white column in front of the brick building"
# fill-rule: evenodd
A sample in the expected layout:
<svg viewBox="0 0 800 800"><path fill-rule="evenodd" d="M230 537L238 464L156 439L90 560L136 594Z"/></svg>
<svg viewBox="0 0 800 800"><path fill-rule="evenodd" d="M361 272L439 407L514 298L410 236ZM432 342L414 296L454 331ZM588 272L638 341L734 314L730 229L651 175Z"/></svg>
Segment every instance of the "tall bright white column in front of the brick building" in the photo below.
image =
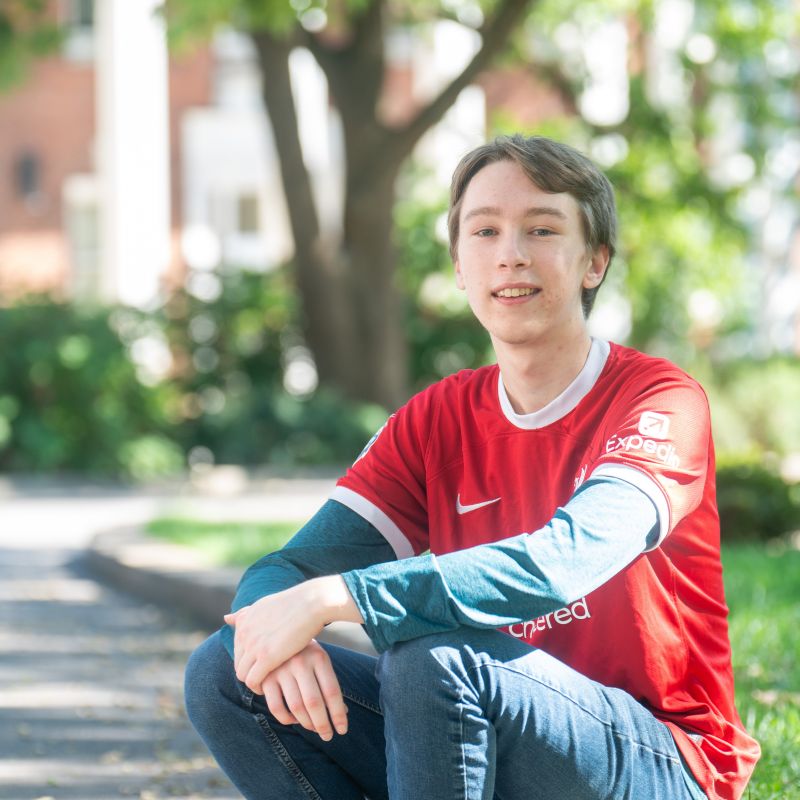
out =
<svg viewBox="0 0 800 800"><path fill-rule="evenodd" d="M96 4L101 296L148 305L169 260L168 64L158 0Z"/></svg>

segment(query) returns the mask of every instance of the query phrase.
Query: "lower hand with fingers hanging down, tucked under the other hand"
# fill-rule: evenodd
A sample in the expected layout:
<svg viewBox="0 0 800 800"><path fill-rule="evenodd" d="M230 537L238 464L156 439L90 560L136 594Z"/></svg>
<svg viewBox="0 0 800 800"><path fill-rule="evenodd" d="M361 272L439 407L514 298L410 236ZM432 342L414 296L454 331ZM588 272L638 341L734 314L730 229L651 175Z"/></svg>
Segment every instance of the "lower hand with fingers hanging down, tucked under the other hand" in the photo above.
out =
<svg viewBox="0 0 800 800"><path fill-rule="evenodd" d="M267 675L262 693L272 716L283 725L302 725L323 741L333 728L347 733L347 706L330 657L312 640L297 655Z"/></svg>

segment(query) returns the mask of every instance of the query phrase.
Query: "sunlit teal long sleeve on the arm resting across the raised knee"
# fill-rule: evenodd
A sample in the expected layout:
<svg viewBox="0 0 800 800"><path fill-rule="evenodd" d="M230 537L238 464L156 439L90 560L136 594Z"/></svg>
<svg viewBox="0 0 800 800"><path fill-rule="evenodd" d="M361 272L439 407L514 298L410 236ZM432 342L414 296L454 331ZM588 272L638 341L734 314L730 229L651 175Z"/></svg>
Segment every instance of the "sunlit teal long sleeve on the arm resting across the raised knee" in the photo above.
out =
<svg viewBox="0 0 800 800"><path fill-rule="evenodd" d="M373 644L385 650L428 633L497 628L561 608L635 559L656 523L655 508L640 490L603 480L586 484L532 534L343 578Z"/></svg>

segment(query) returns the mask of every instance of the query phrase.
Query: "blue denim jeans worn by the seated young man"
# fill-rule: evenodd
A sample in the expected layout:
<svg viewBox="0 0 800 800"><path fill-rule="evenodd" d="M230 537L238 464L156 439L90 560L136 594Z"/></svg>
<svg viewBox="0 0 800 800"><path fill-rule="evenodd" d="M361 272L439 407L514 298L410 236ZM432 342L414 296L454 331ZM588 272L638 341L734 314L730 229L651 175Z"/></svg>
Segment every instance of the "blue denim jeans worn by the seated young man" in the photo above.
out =
<svg viewBox="0 0 800 800"><path fill-rule="evenodd" d="M349 711L330 742L278 723L219 634L189 661L189 718L248 800L705 797L630 695L506 634L462 628L377 659L324 646Z"/></svg>

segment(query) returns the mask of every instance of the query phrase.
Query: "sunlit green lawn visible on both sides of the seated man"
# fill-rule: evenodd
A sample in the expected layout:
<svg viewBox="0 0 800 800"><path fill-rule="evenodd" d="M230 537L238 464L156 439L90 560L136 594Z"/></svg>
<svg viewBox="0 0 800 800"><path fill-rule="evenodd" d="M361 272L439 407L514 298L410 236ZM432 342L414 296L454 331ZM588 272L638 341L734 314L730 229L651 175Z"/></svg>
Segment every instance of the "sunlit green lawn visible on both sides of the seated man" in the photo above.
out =
<svg viewBox="0 0 800 800"><path fill-rule="evenodd" d="M300 523L161 519L149 532L217 563L247 566L280 548ZM800 800L800 550L731 544L723 552L736 704L762 757L746 800Z"/></svg>

